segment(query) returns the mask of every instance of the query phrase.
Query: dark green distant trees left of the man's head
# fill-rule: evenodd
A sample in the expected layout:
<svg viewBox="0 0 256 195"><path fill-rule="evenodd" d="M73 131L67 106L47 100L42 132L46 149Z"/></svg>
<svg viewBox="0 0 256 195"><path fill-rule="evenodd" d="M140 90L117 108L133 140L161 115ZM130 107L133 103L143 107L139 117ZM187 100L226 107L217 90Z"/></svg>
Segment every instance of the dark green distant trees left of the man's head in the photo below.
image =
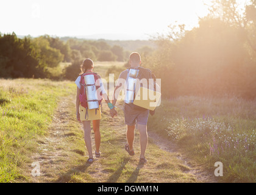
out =
<svg viewBox="0 0 256 195"><path fill-rule="evenodd" d="M14 32L0 33L0 77L74 79L85 58L94 61L126 61L130 51L120 46L119 41L110 43L118 44L49 35L18 38ZM54 76L52 71L59 68L60 62L69 62L71 65L65 67L61 75Z"/></svg>

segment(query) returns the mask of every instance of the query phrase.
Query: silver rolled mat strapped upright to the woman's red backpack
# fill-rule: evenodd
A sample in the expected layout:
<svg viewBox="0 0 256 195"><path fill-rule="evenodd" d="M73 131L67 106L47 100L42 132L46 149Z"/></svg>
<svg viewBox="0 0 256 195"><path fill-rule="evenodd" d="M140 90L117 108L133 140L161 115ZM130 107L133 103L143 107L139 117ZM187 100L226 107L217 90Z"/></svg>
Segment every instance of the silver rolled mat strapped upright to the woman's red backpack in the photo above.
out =
<svg viewBox="0 0 256 195"><path fill-rule="evenodd" d="M89 85L85 87L88 109L99 108L98 95L95 86L95 80L93 74L85 75L85 84Z"/></svg>

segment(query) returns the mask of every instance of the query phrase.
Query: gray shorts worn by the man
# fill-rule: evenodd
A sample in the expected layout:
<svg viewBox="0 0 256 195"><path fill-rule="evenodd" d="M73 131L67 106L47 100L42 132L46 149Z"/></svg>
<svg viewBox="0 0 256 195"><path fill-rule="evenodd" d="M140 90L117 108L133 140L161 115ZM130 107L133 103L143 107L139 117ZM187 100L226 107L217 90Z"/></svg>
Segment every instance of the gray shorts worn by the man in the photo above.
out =
<svg viewBox="0 0 256 195"><path fill-rule="evenodd" d="M128 126L148 123L149 110L141 110L133 104L124 104L124 121Z"/></svg>

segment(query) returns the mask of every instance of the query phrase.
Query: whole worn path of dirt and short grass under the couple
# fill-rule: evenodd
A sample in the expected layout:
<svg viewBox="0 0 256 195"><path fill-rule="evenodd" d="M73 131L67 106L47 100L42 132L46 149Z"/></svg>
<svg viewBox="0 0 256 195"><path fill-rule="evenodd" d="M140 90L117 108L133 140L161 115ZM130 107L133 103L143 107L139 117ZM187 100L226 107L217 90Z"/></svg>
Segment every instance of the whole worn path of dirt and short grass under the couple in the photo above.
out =
<svg viewBox="0 0 256 195"><path fill-rule="evenodd" d="M105 151L105 153L103 151L101 158L96 159L93 166L85 163L87 160L87 151L84 146L82 124L77 126L74 113L71 113L74 107L75 102L73 96L63 98L62 101L60 101L59 107L53 116L52 124L49 127L48 135L38 140L38 151L31 157L33 163L40 165L40 176L32 176L32 172L34 171L33 167L31 164L27 165L26 175L30 178L29 182L140 182L138 178L143 178L143 171L149 172L149 176L154 176L154 169L161 167L157 164L161 162L155 160L157 163L149 163L148 168L143 168L143 166L137 165L135 158L130 158L127 157L127 154L123 154L125 153L123 152L123 145L126 143L126 127L124 125L123 115L119 115L116 119L102 119L101 123L103 126L106 128L110 126L108 128L112 130L115 129L112 134L108 133L110 129L105 130L105 134L102 132L104 134L102 137L102 147L113 149L112 151ZM119 108L121 108L121 105L119 105ZM107 111L107 109L105 109L105 111ZM104 115L107 115L107 112L104 112ZM71 130L72 128L74 129L73 126L76 126L77 129ZM91 137L92 144L94 145L93 133ZM104 140L105 138L108 138L108 140ZM79 143L80 147L77 146ZM192 165L187 158L180 155L179 152L177 152L178 150L175 144L149 131L149 144L151 143L157 145L160 150L169 153L169 157L166 157L166 159L177 158L184 166L188 167L183 170L183 173L188 173L189 176L194 177L196 182L216 182L214 177L204 171L202 166ZM135 144L137 145L136 149L138 151L138 135L137 138L135 138ZM121 151L124 157L119 157L119 161L121 161L119 162L119 168L113 169L112 162L109 162L110 154L121 147L122 149L119 151ZM154 148L149 148L149 151L150 150L155 151ZM118 154L118 151L116 152ZM115 154L113 155L115 156ZM150 158L151 157L149 157L149 159ZM168 164L165 163L164 165ZM112 168L109 168L110 166L112 166ZM132 170L132 175L126 178L123 176L123 172L127 171L126 169L131 169L131 167L134 169ZM163 169L166 168L163 167ZM123 177L123 179L120 179L121 177ZM163 179L162 181L172 182L168 177L169 176L166 176L166 180ZM159 181L157 178L155 180L151 178L146 180L146 182Z"/></svg>

